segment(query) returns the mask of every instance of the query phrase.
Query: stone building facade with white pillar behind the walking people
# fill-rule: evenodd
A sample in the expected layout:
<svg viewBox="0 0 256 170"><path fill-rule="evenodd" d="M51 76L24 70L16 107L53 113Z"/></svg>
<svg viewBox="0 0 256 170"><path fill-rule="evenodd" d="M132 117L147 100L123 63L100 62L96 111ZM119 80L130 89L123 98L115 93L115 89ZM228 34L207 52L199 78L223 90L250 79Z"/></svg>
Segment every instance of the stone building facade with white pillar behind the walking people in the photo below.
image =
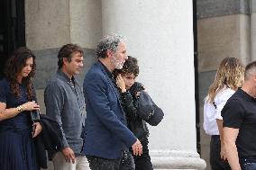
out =
<svg viewBox="0 0 256 170"><path fill-rule="evenodd" d="M197 153L194 42L197 40L199 87L196 90L202 124L203 100L219 62L225 57L235 57L247 64L256 58L254 0L8 2L15 9L8 12L15 18L13 22L22 25L17 26L19 31L13 37L19 43L13 46L26 45L37 57L35 85L41 112L44 112L43 91L57 71L57 54L62 45L77 43L85 50L84 71L78 76L82 83L87 69L96 61L97 41L107 33L122 34L127 39L128 54L139 60L138 80L147 86L165 112L160 125L150 128L154 169L209 169L208 164L206 167L209 137L202 128L202 158ZM196 37L193 3L197 4Z"/></svg>

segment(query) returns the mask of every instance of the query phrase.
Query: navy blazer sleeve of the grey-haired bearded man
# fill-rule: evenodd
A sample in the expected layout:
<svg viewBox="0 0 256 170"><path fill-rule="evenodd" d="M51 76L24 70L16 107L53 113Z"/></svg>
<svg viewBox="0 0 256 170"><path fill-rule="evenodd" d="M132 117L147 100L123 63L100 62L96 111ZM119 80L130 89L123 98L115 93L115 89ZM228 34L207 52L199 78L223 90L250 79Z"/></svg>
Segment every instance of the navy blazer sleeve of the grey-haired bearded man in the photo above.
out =
<svg viewBox="0 0 256 170"><path fill-rule="evenodd" d="M101 75L87 75L84 82L84 95L90 103L94 114L108 130L122 139L125 145L130 148L136 141L133 132L118 120L114 111L111 110L107 93L107 80ZM88 113L88 112L87 112Z"/></svg>

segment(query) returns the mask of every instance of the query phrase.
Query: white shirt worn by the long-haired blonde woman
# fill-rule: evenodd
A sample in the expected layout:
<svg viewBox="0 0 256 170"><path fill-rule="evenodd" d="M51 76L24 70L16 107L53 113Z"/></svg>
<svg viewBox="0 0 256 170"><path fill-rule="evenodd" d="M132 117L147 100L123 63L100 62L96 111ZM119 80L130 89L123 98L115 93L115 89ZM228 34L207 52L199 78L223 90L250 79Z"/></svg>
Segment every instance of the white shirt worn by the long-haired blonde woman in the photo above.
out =
<svg viewBox="0 0 256 170"><path fill-rule="evenodd" d="M206 97L204 104L204 130L208 135L219 135L219 130L217 126L216 119L223 120L221 112L224 108L226 101L234 94L234 90L231 88L224 87L218 92L215 96L215 105L214 103L208 103ZM216 106L216 108L215 108Z"/></svg>

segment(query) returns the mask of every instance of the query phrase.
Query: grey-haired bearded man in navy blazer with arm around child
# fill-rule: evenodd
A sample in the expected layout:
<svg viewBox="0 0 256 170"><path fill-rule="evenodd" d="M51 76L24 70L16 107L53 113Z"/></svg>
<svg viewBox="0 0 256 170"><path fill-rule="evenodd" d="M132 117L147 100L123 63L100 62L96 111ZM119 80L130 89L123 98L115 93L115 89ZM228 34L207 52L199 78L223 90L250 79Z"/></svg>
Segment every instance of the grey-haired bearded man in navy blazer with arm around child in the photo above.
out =
<svg viewBox="0 0 256 170"><path fill-rule="evenodd" d="M123 151L142 154L142 144L126 127L125 113L112 72L121 69L126 45L120 35L107 35L97 45L98 61L87 72L84 95L87 121L83 151L92 170L118 170ZM128 168L133 169L133 168Z"/></svg>

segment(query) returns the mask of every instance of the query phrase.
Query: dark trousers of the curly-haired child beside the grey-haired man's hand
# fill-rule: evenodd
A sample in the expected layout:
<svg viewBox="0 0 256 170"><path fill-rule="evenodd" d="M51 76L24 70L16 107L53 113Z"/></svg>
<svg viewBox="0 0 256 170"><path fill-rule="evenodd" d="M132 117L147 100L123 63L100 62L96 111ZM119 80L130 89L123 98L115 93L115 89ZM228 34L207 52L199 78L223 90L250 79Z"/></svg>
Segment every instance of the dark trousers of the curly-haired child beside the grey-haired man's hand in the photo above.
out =
<svg viewBox="0 0 256 170"><path fill-rule="evenodd" d="M153 170L151 157L148 148L149 140L147 138L142 140L143 152L142 156L133 156L135 163L135 170ZM131 150L132 151L132 150Z"/></svg>

